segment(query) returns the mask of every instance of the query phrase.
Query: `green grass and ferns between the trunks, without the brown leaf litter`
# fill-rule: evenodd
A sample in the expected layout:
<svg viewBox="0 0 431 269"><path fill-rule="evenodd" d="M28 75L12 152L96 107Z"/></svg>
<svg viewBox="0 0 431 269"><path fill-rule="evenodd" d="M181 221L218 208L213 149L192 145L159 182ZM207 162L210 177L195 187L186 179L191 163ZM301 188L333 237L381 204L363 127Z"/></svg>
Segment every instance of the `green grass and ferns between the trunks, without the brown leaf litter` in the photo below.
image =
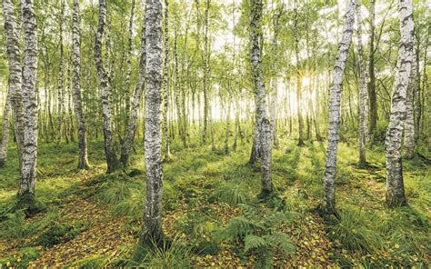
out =
<svg viewBox="0 0 431 269"><path fill-rule="evenodd" d="M220 141L217 147L222 149L222 145ZM293 254L293 244L284 245L275 237L285 238L290 234L283 234L281 227L297 229L297 223L315 214L322 196L325 144L307 143L299 148L294 140L282 140L273 151L276 194L266 201L256 198L260 193L260 169L258 164L247 164L249 150L250 144L244 144L236 152L223 154L212 152L209 144L182 149L181 143L175 141L173 160L163 164L163 214L173 218L168 226L170 235L184 235L170 247L136 251L141 255L135 261L129 251L120 259L90 255L71 266L98 268L113 263L149 268L193 266L191 257L195 255L205 257L228 250L243 261L257 257L258 267L271 264L277 255ZM15 151L14 147L9 149L9 162L0 174L3 202L0 212L15 203L19 179ZM78 172L74 144L61 147L41 144L36 197L47 205L47 212L32 219L26 219L19 211L7 214L0 225L0 240L33 242L46 247L70 240L73 238L70 234L77 235L81 228L89 227L65 221L58 214L75 199L106 208L109 217L124 218L123 233L137 238L145 206L145 173L134 177L121 171L105 175L103 143L91 142L89 152L92 168ZM409 207L389 210L385 206L383 147L376 145L367 150L372 168L358 167L357 159L356 144L339 144L336 207L341 219L324 224L326 236L333 243L331 261L365 268L386 265L425 268L431 253L429 165L418 157L404 162ZM131 160L133 168L145 171L142 154L133 155ZM228 216L226 219L224 214ZM25 259L35 259L38 254L33 250L16 249L16 254L23 252L20 262L10 257L3 257L0 262L9 259L9 264L16 265Z"/></svg>

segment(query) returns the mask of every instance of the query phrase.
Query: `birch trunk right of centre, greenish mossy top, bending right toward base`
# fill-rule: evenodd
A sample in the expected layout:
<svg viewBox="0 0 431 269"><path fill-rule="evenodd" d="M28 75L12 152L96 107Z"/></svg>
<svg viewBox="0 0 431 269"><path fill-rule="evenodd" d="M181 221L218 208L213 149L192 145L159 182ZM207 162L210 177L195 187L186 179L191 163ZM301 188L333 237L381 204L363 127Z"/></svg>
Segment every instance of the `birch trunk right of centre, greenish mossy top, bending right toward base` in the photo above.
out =
<svg viewBox="0 0 431 269"><path fill-rule="evenodd" d="M261 58L261 17L262 1L251 1L251 65L253 82L255 85L255 102L256 102L256 130L259 133L259 144L262 159L262 193L266 196L273 191L271 182L271 149L272 149L272 132L271 123L266 116L266 90L264 74L262 72Z"/></svg>

